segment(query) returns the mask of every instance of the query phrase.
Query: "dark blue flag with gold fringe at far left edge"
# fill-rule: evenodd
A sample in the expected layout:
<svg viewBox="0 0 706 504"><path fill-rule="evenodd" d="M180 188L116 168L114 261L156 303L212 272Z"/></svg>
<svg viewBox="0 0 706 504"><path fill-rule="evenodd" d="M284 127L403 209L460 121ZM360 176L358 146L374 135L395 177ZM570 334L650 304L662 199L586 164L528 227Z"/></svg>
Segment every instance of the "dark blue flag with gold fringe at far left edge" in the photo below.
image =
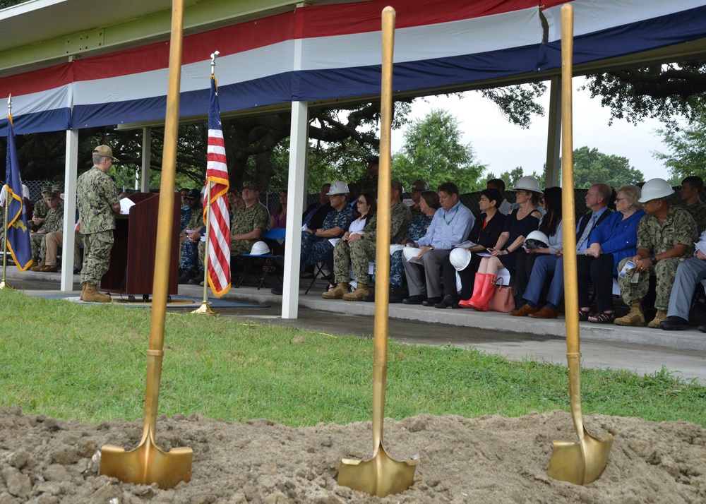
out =
<svg viewBox="0 0 706 504"><path fill-rule="evenodd" d="M17 268L25 271L32 265L30 230L27 224L27 208L22 196L22 179L20 179L20 163L15 147L15 133L12 131L12 116L7 117L6 185L0 195L0 205L4 206L7 212L7 248Z"/></svg>

